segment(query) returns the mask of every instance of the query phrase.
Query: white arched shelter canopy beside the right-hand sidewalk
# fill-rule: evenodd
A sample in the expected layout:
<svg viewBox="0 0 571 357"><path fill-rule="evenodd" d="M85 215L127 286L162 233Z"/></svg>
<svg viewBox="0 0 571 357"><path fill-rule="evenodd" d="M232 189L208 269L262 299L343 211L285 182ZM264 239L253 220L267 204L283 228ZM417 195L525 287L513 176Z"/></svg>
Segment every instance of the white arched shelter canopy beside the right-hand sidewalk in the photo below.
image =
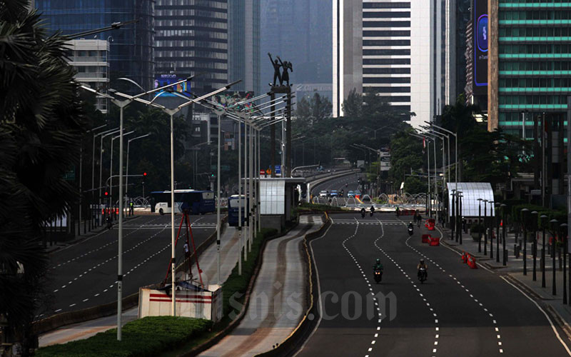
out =
<svg viewBox="0 0 571 357"><path fill-rule="evenodd" d="M464 217L477 217L478 208L481 206L481 213L484 216L484 208L486 208L486 215L493 216L494 205L486 203L484 201L478 201L478 198L482 200L487 200L488 202L494 201L494 191L492 190L492 185L489 182L458 182L448 183L448 204L450 209L448 210L448 216L452 216L452 199L453 193L458 190L461 192L462 196L462 212L461 216ZM456 203L454 203L456 204ZM455 209L456 210L456 209Z"/></svg>

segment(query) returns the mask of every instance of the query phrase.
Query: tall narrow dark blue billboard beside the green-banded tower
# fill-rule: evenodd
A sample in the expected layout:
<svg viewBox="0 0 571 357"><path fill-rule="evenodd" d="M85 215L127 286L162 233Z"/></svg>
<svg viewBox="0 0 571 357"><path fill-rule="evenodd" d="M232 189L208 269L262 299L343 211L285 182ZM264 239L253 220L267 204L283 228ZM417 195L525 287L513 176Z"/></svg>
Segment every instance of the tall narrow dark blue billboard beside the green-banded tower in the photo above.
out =
<svg viewBox="0 0 571 357"><path fill-rule="evenodd" d="M473 0L474 94L487 93L487 0Z"/></svg>

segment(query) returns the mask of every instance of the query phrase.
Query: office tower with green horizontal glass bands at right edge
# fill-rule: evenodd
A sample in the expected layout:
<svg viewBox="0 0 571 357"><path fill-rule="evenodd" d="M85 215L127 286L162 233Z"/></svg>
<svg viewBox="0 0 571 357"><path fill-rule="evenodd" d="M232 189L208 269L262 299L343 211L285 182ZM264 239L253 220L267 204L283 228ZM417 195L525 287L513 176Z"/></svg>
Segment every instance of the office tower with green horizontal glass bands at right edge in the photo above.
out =
<svg viewBox="0 0 571 357"><path fill-rule="evenodd" d="M500 127L510 134L533 138L534 121L556 114L565 116L567 111L567 96L571 95L571 4L559 0L483 2L490 5L488 129ZM476 4L480 5L480 0ZM482 38L480 29L474 33ZM548 124L550 121L542 126L547 128Z"/></svg>

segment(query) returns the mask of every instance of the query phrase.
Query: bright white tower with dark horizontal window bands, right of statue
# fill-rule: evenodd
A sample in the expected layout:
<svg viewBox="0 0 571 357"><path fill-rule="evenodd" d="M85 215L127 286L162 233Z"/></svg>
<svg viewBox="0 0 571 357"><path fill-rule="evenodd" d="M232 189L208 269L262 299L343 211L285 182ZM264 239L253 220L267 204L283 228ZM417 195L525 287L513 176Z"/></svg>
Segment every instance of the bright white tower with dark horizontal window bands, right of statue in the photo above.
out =
<svg viewBox="0 0 571 357"><path fill-rule="evenodd" d="M334 0L333 116L353 89L413 111L413 126L440 114L457 93L452 2Z"/></svg>

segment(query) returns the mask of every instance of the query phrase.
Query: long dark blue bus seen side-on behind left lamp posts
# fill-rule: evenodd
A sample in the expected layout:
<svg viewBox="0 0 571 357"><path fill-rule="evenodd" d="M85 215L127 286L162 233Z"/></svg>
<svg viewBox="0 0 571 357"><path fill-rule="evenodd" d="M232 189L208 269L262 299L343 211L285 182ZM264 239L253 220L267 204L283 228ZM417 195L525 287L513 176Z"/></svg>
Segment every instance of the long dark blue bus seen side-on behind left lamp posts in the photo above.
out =
<svg viewBox="0 0 571 357"><path fill-rule="evenodd" d="M181 213L185 207L190 214L204 214L216 209L213 191L174 190L174 203L175 213ZM151 192L151 212L171 213L171 191Z"/></svg>

